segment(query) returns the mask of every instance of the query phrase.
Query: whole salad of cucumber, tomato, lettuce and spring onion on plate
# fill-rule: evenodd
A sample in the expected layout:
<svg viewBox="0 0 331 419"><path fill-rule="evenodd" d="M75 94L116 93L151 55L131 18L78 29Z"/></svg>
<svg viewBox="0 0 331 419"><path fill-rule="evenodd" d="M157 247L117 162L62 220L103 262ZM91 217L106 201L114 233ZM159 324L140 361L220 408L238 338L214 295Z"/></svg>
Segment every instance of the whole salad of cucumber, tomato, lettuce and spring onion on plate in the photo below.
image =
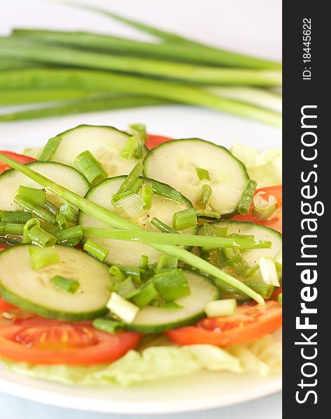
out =
<svg viewBox="0 0 331 419"><path fill-rule="evenodd" d="M280 165L142 124L0 152L0 362L75 385L279 374Z"/></svg>

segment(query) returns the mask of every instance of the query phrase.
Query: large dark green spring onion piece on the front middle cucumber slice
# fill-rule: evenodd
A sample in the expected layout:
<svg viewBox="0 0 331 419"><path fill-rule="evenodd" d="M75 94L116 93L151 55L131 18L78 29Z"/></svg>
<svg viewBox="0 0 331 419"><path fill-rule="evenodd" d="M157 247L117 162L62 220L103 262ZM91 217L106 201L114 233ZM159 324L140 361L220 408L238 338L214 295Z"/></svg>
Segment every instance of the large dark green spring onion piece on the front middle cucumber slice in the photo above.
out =
<svg viewBox="0 0 331 419"><path fill-rule="evenodd" d="M190 295L191 290L181 269L174 268L160 272L152 278L155 288L165 301Z"/></svg>

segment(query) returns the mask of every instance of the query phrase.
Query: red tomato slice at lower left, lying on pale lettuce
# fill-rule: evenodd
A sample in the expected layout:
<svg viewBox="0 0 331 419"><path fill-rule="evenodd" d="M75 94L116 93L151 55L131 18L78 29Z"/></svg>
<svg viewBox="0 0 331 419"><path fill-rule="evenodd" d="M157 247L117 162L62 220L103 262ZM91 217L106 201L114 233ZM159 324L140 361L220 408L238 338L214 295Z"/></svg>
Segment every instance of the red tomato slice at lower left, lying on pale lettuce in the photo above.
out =
<svg viewBox="0 0 331 419"><path fill-rule="evenodd" d="M121 358L139 340L138 333L105 333L90 322L36 317L0 328L0 356L38 365L94 365Z"/></svg>

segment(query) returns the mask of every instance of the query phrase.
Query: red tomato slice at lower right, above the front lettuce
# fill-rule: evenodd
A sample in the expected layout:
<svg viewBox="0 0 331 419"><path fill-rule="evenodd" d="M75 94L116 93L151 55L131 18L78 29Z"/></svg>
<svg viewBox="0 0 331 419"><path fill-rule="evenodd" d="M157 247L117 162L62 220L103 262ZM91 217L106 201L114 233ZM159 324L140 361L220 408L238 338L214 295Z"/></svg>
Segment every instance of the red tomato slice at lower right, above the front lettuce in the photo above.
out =
<svg viewBox="0 0 331 419"><path fill-rule="evenodd" d="M276 301L265 307L244 304L234 316L203 318L195 326L170 330L166 335L176 344L229 346L259 339L281 328L281 307Z"/></svg>

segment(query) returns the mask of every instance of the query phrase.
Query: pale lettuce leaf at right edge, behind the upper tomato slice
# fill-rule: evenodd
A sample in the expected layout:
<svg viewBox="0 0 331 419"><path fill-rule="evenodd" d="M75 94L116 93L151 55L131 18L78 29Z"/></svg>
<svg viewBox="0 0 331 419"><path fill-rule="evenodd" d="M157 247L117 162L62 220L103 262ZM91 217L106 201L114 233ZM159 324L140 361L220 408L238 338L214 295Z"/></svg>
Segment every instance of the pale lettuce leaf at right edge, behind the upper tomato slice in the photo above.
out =
<svg viewBox="0 0 331 419"><path fill-rule="evenodd" d="M244 163L249 177L257 182L258 188L282 183L281 149L258 152L247 145L235 144L230 148L230 152Z"/></svg>

